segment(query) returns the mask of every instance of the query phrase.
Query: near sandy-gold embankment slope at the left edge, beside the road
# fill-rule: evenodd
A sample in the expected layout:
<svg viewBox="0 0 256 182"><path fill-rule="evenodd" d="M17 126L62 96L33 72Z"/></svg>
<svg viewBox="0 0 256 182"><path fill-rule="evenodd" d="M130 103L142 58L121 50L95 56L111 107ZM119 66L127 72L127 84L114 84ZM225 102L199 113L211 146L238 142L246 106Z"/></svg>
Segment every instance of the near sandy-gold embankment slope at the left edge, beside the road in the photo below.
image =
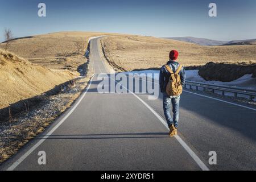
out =
<svg viewBox="0 0 256 182"><path fill-rule="evenodd" d="M34 65L0 49L0 109L27 98L38 96L79 74Z"/></svg>

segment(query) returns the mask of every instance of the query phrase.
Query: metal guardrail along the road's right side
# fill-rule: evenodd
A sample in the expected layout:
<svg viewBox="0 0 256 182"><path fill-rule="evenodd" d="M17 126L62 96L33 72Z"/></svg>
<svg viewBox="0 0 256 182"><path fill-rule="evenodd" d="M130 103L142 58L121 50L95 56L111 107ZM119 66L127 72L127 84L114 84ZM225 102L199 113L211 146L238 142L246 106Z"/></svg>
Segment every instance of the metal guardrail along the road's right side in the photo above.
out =
<svg viewBox="0 0 256 182"><path fill-rule="evenodd" d="M225 92L234 93L234 97L237 97L237 94L243 94L246 96L249 96L250 100L253 101L256 97L256 90L254 89L244 89L233 86L223 86L223 85L215 85L215 84L205 84L204 82L196 82L196 81L186 81L185 87L187 88L187 85L189 85L189 89L192 89L192 86L196 86L196 90L199 90L198 88L201 87L204 89L210 89L214 93L214 90L219 90L222 92L222 96L225 96Z"/></svg>

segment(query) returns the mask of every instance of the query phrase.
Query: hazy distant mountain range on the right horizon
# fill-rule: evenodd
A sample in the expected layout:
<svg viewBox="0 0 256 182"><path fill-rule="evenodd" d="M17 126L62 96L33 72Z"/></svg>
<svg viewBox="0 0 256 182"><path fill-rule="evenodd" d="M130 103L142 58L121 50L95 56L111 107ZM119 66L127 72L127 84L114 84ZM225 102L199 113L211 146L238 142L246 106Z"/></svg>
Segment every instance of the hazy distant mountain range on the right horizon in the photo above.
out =
<svg viewBox="0 0 256 182"><path fill-rule="evenodd" d="M203 38L194 38L192 36L165 38L165 39L179 40L182 42L199 44L201 46L256 45L256 39L219 41L219 40L210 40L210 39L203 39Z"/></svg>

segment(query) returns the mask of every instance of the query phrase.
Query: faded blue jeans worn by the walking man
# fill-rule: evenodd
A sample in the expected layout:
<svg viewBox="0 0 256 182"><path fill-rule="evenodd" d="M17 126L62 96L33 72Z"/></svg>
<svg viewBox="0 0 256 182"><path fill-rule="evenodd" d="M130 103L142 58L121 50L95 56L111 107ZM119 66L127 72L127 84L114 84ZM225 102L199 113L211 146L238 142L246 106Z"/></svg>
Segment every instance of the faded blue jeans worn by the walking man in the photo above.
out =
<svg viewBox="0 0 256 182"><path fill-rule="evenodd" d="M171 117L170 108L172 104L172 112L174 113L174 119ZM163 110L164 116L168 123L168 127L174 125L178 126L179 121L179 107L180 107L180 96L171 96L169 97L166 92L163 92Z"/></svg>

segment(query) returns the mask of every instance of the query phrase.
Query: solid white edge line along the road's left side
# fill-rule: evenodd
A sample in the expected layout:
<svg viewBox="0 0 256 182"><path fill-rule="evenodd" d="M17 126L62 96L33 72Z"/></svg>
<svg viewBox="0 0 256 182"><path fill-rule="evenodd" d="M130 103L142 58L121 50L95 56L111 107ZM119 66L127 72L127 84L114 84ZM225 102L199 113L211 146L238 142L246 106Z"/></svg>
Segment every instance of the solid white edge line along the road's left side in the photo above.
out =
<svg viewBox="0 0 256 182"><path fill-rule="evenodd" d="M93 76L94 77L94 76ZM73 106L73 108L68 112L68 114L65 115L63 119L51 131L49 131L42 139L39 140L38 143L36 143L33 147L30 148L25 154L23 154L16 162L14 162L9 168L7 168L7 171L13 171L24 159L27 158L28 155L30 155L36 148L40 146L46 140L68 117L73 113L73 111L76 109L76 107L80 104L82 99L84 98L85 94L87 93L88 89L90 88L90 85L92 84L93 77L90 79L89 85L87 86L85 92L82 94L82 96L79 98L79 101L76 102L76 104Z"/></svg>

